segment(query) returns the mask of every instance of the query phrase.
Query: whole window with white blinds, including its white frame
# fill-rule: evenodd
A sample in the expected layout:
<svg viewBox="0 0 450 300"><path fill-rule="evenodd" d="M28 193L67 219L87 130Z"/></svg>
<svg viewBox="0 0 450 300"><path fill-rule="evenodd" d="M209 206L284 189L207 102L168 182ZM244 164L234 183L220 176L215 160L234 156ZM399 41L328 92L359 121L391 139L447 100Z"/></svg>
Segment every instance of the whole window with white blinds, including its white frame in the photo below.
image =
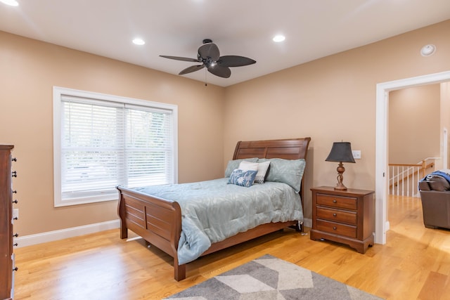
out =
<svg viewBox="0 0 450 300"><path fill-rule="evenodd" d="M176 105L53 88L55 207L176 183Z"/></svg>

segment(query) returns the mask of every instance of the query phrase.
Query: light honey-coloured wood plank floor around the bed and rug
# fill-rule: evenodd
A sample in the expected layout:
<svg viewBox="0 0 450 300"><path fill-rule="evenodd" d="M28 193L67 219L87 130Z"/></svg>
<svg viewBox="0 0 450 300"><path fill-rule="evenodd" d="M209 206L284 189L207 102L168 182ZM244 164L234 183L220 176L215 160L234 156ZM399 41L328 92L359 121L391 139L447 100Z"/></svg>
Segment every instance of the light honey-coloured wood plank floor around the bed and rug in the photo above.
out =
<svg viewBox="0 0 450 300"><path fill-rule="evenodd" d="M423 226L420 198L393 197L389 220L387 244L366 254L284 230L188 264L181 282L169 256L119 230L23 247L15 299L161 299L264 254L385 299L450 299L450 230Z"/></svg>

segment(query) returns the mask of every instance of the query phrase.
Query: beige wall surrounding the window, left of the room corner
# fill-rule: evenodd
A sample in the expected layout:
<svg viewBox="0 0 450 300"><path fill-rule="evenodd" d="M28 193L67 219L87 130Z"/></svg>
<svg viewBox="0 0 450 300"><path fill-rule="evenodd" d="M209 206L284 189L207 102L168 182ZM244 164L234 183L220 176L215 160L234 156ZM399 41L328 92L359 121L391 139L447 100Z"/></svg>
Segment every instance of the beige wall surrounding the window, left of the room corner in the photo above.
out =
<svg viewBox="0 0 450 300"><path fill-rule="evenodd" d="M117 219L116 201L53 207L53 86L178 105L179 182L223 176L224 88L5 32L0 66L0 143L18 158L21 236Z"/></svg>

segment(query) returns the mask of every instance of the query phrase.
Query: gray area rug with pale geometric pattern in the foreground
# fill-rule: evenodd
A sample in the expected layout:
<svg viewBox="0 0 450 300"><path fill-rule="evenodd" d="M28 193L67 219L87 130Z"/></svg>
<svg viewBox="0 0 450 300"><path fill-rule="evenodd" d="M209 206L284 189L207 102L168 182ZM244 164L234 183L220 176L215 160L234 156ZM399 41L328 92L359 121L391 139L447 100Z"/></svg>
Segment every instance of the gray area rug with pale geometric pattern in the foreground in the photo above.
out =
<svg viewBox="0 0 450 300"><path fill-rule="evenodd" d="M381 298L294 263L264 255L166 299L373 300Z"/></svg>

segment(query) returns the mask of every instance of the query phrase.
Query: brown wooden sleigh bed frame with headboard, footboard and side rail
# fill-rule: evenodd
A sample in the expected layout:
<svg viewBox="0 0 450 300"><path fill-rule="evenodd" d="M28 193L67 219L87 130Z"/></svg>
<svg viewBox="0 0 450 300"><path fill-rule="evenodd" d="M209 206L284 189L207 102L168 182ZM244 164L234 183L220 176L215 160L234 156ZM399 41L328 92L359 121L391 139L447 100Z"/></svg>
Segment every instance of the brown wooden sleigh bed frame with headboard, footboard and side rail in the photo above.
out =
<svg viewBox="0 0 450 300"><path fill-rule="evenodd" d="M251 157L300 159L307 157L311 138L295 138L271 141L240 141L236 145L233 159ZM304 178L304 176L303 176ZM118 214L120 216L120 238L128 237L128 229L143 237L174 258L174 278L176 281L186 278L186 264L179 265L177 248L181 235L181 209L178 202L153 197L117 186L120 193ZM303 207L303 179L300 196ZM295 227L302 231L297 221L266 223L256 228L238 233L221 242L213 243L203 255L217 252L235 244L252 240L285 227Z"/></svg>

